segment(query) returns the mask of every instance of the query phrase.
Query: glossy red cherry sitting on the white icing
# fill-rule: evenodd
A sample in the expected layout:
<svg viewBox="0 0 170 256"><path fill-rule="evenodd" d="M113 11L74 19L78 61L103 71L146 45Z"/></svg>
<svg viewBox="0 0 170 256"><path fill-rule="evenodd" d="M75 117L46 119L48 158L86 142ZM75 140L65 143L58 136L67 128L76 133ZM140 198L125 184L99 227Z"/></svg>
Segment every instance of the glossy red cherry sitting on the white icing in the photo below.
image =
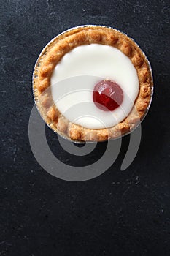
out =
<svg viewBox="0 0 170 256"><path fill-rule="evenodd" d="M101 110L115 110L123 102L123 90L111 80L101 80L94 87L93 102Z"/></svg>

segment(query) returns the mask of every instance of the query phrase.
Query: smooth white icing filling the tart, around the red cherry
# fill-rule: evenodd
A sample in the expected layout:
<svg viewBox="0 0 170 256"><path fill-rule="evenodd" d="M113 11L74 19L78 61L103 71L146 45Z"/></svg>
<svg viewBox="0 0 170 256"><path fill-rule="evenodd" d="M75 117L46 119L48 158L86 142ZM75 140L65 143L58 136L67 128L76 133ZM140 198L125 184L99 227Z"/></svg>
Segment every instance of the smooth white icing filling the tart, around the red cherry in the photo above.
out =
<svg viewBox="0 0 170 256"><path fill-rule="evenodd" d="M123 89L123 102L104 111L93 102L96 83L109 79ZM58 110L74 124L89 129L113 127L128 116L139 92L139 80L131 60L109 45L82 45L63 56L51 78Z"/></svg>

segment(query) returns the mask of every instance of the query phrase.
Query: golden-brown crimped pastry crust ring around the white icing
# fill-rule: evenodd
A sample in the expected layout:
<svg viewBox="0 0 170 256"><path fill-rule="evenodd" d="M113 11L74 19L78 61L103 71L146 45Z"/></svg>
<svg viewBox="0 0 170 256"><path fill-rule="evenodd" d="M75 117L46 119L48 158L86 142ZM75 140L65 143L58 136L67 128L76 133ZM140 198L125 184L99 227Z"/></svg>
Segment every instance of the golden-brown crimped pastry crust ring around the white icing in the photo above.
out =
<svg viewBox="0 0 170 256"><path fill-rule="evenodd" d="M139 94L131 113L115 127L86 129L72 124L56 108L50 92L50 78L58 61L73 48L98 43L121 50L134 64L139 78ZM36 106L48 126L69 140L104 141L118 138L134 129L142 120L152 97L152 73L142 50L127 35L105 26L80 26L55 37L42 51L36 62L33 90Z"/></svg>

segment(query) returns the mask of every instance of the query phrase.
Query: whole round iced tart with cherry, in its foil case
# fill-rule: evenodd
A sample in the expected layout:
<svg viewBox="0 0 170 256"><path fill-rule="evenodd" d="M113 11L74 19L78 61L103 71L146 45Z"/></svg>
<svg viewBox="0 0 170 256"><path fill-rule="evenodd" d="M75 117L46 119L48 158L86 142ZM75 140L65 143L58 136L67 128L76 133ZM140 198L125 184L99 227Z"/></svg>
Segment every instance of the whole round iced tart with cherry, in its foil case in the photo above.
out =
<svg viewBox="0 0 170 256"><path fill-rule="evenodd" d="M152 99L152 71L133 39L106 26L78 26L42 50L33 75L36 106L66 139L104 141L131 132Z"/></svg>

